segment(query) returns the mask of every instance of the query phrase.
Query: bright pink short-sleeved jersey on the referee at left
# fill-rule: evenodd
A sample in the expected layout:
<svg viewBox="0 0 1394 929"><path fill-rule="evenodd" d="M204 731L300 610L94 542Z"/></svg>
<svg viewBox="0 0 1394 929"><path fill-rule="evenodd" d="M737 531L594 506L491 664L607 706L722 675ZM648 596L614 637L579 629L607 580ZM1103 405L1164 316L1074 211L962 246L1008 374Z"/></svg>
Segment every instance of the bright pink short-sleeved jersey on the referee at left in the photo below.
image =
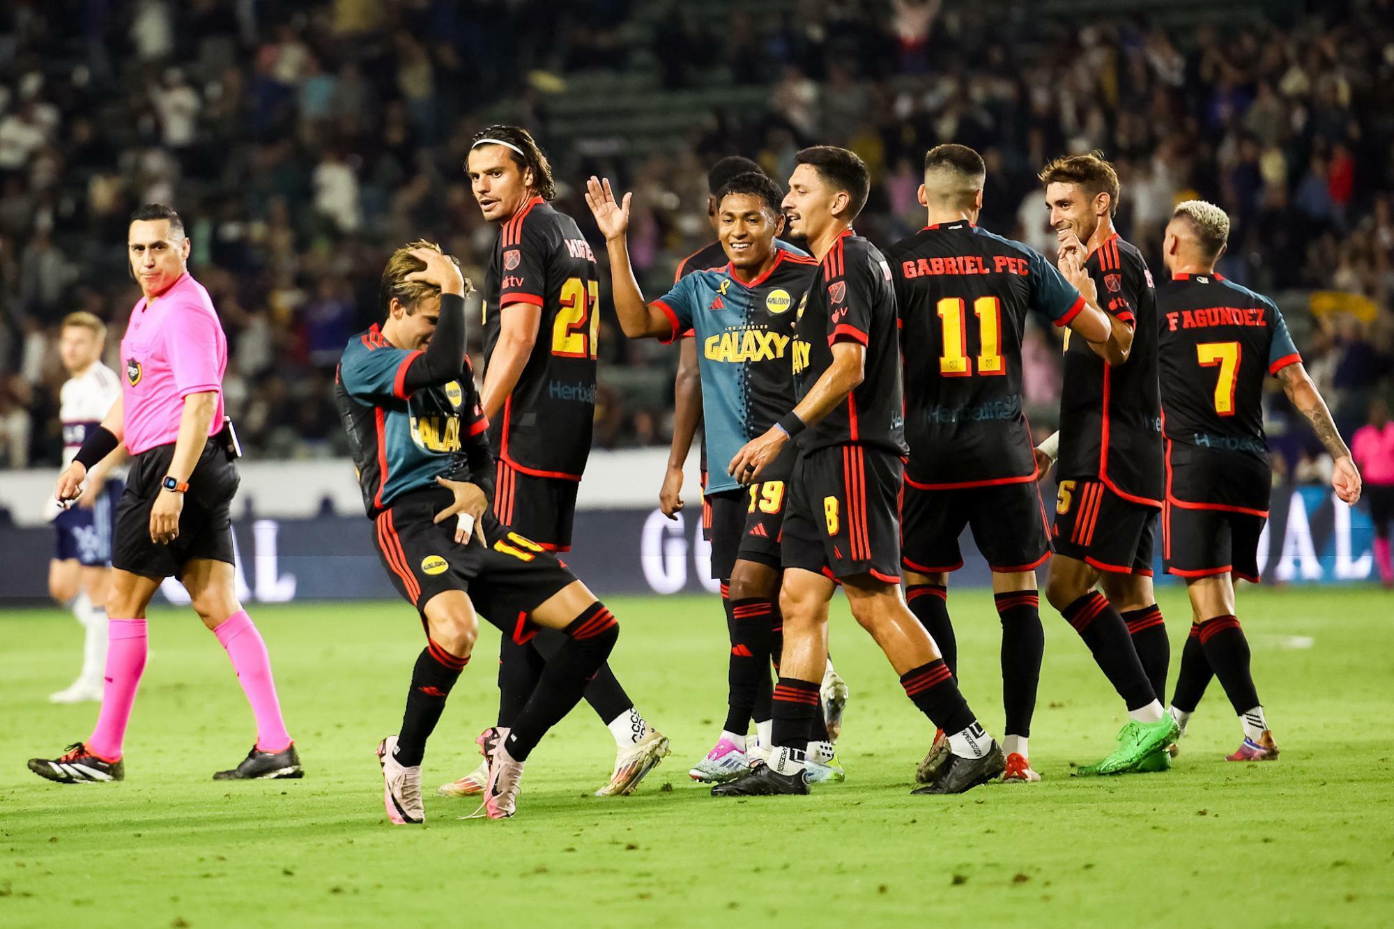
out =
<svg viewBox="0 0 1394 929"><path fill-rule="evenodd" d="M209 435L223 428L227 336L204 285L185 271L153 305L141 299L121 339L125 448L139 455L178 438L184 398L217 392Z"/></svg>

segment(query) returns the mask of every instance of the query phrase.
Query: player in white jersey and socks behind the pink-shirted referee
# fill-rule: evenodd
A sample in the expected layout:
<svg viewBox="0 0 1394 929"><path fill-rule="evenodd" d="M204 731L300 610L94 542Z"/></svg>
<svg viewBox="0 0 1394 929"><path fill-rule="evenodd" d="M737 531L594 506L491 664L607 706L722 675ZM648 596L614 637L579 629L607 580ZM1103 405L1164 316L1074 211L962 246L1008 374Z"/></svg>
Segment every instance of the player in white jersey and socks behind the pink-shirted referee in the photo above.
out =
<svg viewBox="0 0 1394 929"><path fill-rule="evenodd" d="M112 405L121 396L121 384L102 364L106 324L91 312L71 312L59 332L59 356L68 372L59 393L63 420L63 466L82 448ZM113 452L86 476L77 506L54 508L53 559L49 562L49 593L67 605L84 629L82 670L71 686L49 699L54 703L82 703L102 699L102 668L106 664L106 591L112 580L112 515L123 483L112 476L120 460Z"/></svg>

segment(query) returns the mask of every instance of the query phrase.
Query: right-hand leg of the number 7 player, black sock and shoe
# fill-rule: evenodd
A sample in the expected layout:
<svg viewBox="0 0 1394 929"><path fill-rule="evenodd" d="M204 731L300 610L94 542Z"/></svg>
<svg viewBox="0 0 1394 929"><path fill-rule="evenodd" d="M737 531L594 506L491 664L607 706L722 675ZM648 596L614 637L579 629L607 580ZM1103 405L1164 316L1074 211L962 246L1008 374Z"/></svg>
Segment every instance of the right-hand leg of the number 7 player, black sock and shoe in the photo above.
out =
<svg viewBox="0 0 1394 929"><path fill-rule="evenodd" d="M1259 703L1259 692L1253 685L1249 643L1235 617L1234 579L1228 573L1192 577L1186 580L1186 593L1197 626L1196 642L1203 653L1199 657L1220 678L1220 685L1243 727L1243 742L1228 760L1271 762L1278 756L1278 746L1273 732L1269 731L1263 704ZM1186 671L1186 661L1182 657L1184 678ZM1190 709L1193 711L1195 704ZM1185 718L1189 717L1190 713L1186 711ZM1178 717L1178 721L1181 718Z"/></svg>

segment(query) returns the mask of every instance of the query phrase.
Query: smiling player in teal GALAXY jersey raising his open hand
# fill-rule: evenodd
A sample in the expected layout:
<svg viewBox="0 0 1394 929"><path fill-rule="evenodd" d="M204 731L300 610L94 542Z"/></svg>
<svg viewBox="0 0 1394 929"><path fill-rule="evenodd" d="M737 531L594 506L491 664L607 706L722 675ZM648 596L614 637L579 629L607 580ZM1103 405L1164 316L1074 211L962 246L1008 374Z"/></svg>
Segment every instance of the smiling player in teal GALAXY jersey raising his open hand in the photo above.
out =
<svg viewBox="0 0 1394 929"><path fill-rule="evenodd" d="M587 183L585 202L605 236L625 335L672 342L693 332L690 342L700 345L710 460L729 462L793 406L793 310L817 262L779 248L782 198L779 186L763 173L730 179L717 191L726 265L686 275L662 299L647 303L629 261L629 201L616 205L608 181L592 177ZM723 598L730 630L729 703L715 748L689 771L693 780L721 783L744 773L753 755L746 741L751 718L757 728L769 725L756 704L771 656L778 660L779 531L793 459L788 449L750 487L725 473L710 476L703 494L711 512L712 577L729 590ZM768 738L767 731L765 745ZM827 734L815 734L815 742L810 780L842 780Z"/></svg>

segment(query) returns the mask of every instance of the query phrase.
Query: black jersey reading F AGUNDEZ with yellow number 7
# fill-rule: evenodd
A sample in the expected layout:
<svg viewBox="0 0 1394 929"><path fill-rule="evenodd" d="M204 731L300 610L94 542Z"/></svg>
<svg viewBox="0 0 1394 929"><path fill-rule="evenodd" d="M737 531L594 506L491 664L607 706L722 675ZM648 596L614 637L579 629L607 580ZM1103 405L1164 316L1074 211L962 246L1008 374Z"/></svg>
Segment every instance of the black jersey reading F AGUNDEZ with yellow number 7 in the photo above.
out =
<svg viewBox="0 0 1394 929"><path fill-rule="evenodd" d="M1157 290L1167 499L1269 509L1263 379L1302 357L1277 304L1220 275L1177 275Z"/></svg>

